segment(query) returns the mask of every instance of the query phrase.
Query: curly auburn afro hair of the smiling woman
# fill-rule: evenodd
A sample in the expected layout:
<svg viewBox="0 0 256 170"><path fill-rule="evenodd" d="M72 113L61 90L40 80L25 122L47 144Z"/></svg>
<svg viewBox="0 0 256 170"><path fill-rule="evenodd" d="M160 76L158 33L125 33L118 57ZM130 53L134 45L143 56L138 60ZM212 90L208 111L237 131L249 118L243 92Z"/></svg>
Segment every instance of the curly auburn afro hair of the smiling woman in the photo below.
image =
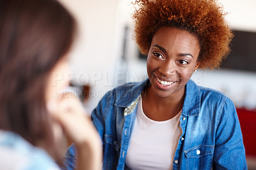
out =
<svg viewBox="0 0 256 170"><path fill-rule="evenodd" d="M215 0L138 0L133 4L139 6L133 14L133 36L142 54L148 54L161 27L184 29L198 38L199 68L218 68L230 53L234 35L223 17L227 13Z"/></svg>

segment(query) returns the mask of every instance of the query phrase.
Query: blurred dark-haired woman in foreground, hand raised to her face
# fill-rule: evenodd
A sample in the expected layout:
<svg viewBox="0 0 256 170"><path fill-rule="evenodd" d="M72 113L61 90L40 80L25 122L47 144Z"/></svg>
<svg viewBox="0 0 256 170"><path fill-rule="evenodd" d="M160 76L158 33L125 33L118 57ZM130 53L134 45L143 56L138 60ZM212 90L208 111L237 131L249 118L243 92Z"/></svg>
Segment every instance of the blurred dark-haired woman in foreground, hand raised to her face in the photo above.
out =
<svg viewBox="0 0 256 170"><path fill-rule="evenodd" d="M59 169L65 134L76 144L77 169L100 169L95 128L74 95L60 97L75 32L58 1L0 1L1 168Z"/></svg>

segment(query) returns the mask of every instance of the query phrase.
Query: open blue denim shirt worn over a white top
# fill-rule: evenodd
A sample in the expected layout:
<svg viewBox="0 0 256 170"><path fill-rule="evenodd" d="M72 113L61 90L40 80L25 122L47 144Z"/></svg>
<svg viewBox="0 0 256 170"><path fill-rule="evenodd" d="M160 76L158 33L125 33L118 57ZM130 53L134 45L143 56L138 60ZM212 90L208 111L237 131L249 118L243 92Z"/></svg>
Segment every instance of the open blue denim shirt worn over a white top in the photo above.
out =
<svg viewBox="0 0 256 170"><path fill-rule="evenodd" d="M103 169L125 169L138 97L150 82L132 82L109 91L92 112L104 148ZM247 169L236 107L218 91L189 80L180 116L182 135L173 169ZM75 148L66 155L74 168Z"/></svg>

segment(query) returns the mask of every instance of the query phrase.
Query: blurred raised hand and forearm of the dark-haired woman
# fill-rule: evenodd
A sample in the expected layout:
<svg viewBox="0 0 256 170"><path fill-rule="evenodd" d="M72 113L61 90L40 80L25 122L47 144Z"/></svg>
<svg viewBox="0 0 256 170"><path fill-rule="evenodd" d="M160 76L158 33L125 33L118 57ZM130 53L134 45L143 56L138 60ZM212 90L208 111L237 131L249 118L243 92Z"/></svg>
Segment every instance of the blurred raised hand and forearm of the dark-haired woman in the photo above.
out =
<svg viewBox="0 0 256 170"><path fill-rule="evenodd" d="M56 104L47 107L64 134L76 144L77 169L100 169L102 143L80 100L72 93L64 93Z"/></svg>

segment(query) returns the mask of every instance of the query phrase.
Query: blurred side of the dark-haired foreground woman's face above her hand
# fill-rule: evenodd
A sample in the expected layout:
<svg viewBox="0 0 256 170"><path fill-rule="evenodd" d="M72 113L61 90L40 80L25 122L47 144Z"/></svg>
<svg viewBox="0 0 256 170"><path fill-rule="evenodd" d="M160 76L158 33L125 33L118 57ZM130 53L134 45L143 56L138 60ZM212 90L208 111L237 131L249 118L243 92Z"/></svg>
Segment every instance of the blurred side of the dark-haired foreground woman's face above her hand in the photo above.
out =
<svg viewBox="0 0 256 170"><path fill-rule="evenodd" d="M56 63L52 69L47 89L46 89L46 102L54 102L57 99L58 93L68 86L68 74L70 73L68 58L63 57Z"/></svg>

